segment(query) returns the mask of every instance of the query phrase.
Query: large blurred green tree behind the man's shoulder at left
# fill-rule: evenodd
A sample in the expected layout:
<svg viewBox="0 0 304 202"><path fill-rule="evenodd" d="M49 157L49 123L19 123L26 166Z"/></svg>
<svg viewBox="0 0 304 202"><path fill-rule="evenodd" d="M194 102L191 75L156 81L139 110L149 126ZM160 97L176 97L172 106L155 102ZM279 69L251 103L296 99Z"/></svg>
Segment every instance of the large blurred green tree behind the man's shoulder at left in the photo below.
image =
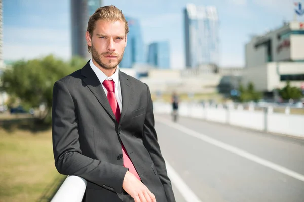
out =
<svg viewBox="0 0 304 202"><path fill-rule="evenodd" d="M39 117L41 121L50 117L52 93L55 81L80 69L86 63L81 58L68 62L48 55L42 59L19 60L2 74L3 90L11 97L18 97L25 107L36 108L45 105L45 112Z"/></svg>

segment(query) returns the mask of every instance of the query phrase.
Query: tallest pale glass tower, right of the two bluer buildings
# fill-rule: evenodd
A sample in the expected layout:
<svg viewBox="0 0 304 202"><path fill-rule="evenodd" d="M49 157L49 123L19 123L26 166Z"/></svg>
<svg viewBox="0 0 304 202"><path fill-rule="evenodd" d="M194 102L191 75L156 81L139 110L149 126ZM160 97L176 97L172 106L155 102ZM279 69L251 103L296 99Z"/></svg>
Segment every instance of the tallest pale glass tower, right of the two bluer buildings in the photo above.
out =
<svg viewBox="0 0 304 202"><path fill-rule="evenodd" d="M184 9L186 67L219 64L219 21L215 7L187 4Z"/></svg>

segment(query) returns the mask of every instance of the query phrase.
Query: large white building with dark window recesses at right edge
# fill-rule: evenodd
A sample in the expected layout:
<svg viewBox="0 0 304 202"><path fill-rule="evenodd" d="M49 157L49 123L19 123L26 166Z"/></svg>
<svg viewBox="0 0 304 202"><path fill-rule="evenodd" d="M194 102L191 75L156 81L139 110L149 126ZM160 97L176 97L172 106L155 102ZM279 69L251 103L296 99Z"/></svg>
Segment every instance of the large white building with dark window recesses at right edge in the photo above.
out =
<svg viewBox="0 0 304 202"><path fill-rule="evenodd" d="M304 84L304 22L284 23L282 27L255 36L245 47L243 84L253 82L256 89L271 92Z"/></svg>

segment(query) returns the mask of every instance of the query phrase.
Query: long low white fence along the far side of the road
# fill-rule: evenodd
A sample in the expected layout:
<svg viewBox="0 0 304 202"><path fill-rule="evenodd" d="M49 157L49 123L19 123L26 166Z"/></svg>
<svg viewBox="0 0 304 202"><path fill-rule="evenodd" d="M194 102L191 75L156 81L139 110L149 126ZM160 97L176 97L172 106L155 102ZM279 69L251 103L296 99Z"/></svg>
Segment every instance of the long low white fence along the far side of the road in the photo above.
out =
<svg viewBox="0 0 304 202"><path fill-rule="evenodd" d="M155 101L155 114L170 114L171 104ZM296 137L304 137L304 115L274 113L272 108L265 111L254 111L253 107L243 110L222 106L203 106L199 103L180 103L179 115L220 122L265 132L280 133Z"/></svg>

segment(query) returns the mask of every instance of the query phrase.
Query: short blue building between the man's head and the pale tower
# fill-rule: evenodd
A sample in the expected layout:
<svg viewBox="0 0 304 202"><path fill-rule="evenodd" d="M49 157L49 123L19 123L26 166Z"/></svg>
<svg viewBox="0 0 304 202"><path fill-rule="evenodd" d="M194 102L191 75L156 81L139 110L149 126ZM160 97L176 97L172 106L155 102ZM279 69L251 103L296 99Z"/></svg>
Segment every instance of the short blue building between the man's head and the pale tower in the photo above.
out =
<svg viewBox="0 0 304 202"><path fill-rule="evenodd" d="M155 42L149 45L148 64L158 69L170 68L170 47L169 42Z"/></svg>

